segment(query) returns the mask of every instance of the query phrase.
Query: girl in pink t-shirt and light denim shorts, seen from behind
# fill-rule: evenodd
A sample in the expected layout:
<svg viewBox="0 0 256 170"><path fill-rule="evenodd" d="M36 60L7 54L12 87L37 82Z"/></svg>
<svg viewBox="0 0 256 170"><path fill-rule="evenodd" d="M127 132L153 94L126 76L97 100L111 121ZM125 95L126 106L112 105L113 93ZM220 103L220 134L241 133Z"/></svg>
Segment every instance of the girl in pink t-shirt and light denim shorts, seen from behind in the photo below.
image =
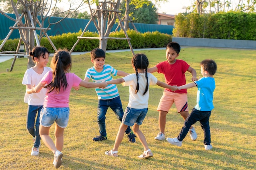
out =
<svg viewBox="0 0 256 170"><path fill-rule="evenodd" d="M45 145L54 153L54 167L61 166L63 154L64 129L69 119L69 96L71 88L83 86L85 88L107 86L106 82L92 83L85 82L74 73L69 73L71 68L71 56L67 51L57 51L51 61L53 71L45 74L40 83L32 88L33 93L38 93L44 87L47 89L43 109L40 115L40 136ZM55 145L49 136L52 124L55 126Z"/></svg>

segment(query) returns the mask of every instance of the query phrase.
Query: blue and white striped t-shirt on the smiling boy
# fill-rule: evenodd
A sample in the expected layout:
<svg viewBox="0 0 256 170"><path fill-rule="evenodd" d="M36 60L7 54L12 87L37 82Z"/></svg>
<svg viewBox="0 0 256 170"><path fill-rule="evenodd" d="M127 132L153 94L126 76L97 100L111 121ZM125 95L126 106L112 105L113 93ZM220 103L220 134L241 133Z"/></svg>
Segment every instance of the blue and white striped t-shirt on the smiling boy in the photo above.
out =
<svg viewBox="0 0 256 170"><path fill-rule="evenodd" d="M103 71L100 73L97 72L94 67L88 68L85 73L85 77L92 79L93 82L103 82L103 81L110 81L113 80L112 75L117 75L117 70L112 66L106 64L103 66ZM119 96L117 85L116 84L109 84L106 88L95 88L95 91L98 95L98 99L113 99Z"/></svg>

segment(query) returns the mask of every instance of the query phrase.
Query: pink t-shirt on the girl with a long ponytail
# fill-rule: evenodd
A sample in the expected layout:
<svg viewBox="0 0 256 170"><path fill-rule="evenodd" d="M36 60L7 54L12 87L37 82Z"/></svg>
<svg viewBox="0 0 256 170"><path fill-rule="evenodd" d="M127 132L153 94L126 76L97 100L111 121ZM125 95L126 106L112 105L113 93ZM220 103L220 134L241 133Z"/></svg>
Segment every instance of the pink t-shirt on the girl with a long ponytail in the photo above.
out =
<svg viewBox="0 0 256 170"><path fill-rule="evenodd" d="M82 79L75 75L74 73L66 73L67 78L67 88L65 91L63 88L60 89L59 93L53 90L51 93L46 93L44 107L51 108L63 108L68 107L70 91L73 86L79 86ZM49 84L52 82L52 71L49 71L45 74L43 79L41 79L41 83Z"/></svg>

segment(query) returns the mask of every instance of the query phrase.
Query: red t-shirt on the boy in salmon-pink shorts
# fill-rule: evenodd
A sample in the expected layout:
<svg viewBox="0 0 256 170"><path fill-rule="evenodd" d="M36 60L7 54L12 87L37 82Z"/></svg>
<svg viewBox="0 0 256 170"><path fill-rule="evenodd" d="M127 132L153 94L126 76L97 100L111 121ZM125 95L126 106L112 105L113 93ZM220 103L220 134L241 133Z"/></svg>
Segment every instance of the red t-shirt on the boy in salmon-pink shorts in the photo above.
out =
<svg viewBox="0 0 256 170"><path fill-rule="evenodd" d="M163 73L165 78L165 83L171 86L182 86L186 84L185 73L189 69L189 64L183 60L176 60L174 64L169 64L167 61L160 62L156 65L158 73ZM171 91L171 89L166 88L166 90ZM187 93L186 89L179 91L171 91L174 93Z"/></svg>

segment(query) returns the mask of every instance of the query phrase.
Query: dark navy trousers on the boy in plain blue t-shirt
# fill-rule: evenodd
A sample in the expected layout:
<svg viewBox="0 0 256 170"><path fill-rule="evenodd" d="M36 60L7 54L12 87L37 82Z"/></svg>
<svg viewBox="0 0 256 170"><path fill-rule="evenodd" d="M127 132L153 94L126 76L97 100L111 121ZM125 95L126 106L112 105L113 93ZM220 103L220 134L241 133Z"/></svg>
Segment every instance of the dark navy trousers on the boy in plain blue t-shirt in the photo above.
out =
<svg viewBox="0 0 256 170"><path fill-rule="evenodd" d="M179 141L183 141L186 137L186 134L189 132L189 128L191 125L195 124L195 122L199 121L201 124L201 128L204 131L204 145L211 144L211 132L209 125L209 118L211 116L211 111L200 111L193 108L192 112L186 118L182 130L180 131L180 135L177 137Z"/></svg>

